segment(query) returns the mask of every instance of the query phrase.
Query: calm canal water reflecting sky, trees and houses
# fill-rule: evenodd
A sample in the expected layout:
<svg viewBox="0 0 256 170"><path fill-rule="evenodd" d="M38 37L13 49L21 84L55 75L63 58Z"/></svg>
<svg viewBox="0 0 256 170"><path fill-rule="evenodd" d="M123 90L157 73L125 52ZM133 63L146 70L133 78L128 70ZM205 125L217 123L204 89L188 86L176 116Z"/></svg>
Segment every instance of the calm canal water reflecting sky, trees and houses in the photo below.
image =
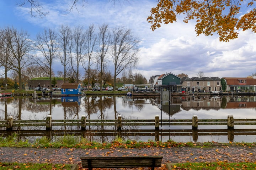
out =
<svg viewBox="0 0 256 170"><path fill-rule="evenodd" d="M65 101L65 102L64 102ZM114 104L115 103L115 104ZM0 99L0 119L6 120L13 116L15 120L45 120L47 115L52 119L116 119L122 115L124 119L154 119L159 115L161 119L227 119L233 115L234 119L256 119L256 96L172 96L170 105L161 105L160 97L127 97L127 96L93 96L93 97L59 97L38 98L15 97ZM115 114L114 108L116 108ZM129 127L130 129L154 129L154 127ZM73 128L70 128L73 129ZM91 127L99 130L101 127ZM105 128L111 129L111 128ZM112 128L113 129L113 128ZM226 126L198 126L198 138L191 126L160 126L161 141L174 140L177 142L229 142L228 135L234 135L234 142L255 142L255 125L235 126L233 132L228 132ZM220 132L202 132L203 129L222 129ZM238 129L252 129L252 132L237 132ZM114 130L114 129L113 129ZM161 132L167 130L168 133ZM178 134L178 131L183 134ZM187 130L187 134L185 134ZM151 135L150 135L151 134ZM111 141L115 136L91 136L91 140ZM149 135L124 137L135 140L155 140L154 131Z"/></svg>

